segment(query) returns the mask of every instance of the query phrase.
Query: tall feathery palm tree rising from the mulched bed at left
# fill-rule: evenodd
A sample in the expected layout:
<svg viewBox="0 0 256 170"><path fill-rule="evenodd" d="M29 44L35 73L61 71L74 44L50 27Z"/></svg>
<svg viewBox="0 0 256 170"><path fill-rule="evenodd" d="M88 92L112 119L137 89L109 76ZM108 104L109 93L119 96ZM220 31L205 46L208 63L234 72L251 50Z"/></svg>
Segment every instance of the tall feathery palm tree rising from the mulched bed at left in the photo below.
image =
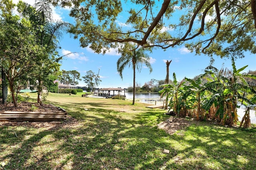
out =
<svg viewBox="0 0 256 170"><path fill-rule="evenodd" d="M54 55L57 54L58 40L62 36L62 31L70 24L62 21L52 20L52 9L48 2L37 0L34 7L24 3L24 8L20 9L23 17L30 20L32 26L37 30L37 42L41 48L45 48L46 55L38 59L38 71L35 76L38 80L38 103L42 104L43 80L54 71L58 71L59 65L54 62Z"/></svg>

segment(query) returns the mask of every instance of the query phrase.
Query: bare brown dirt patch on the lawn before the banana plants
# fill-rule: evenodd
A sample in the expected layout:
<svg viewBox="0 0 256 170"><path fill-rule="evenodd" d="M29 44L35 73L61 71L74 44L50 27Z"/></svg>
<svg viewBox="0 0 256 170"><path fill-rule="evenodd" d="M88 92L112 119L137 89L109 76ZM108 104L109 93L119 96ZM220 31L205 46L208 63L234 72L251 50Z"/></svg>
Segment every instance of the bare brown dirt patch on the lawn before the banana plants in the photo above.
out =
<svg viewBox="0 0 256 170"><path fill-rule="evenodd" d="M184 118L175 118L172 122L169 122L169 119L159 123L157 126L160 129L165 130L169 134L174 134L177 130L182 130L190 126L192 121Z"/></svg>

